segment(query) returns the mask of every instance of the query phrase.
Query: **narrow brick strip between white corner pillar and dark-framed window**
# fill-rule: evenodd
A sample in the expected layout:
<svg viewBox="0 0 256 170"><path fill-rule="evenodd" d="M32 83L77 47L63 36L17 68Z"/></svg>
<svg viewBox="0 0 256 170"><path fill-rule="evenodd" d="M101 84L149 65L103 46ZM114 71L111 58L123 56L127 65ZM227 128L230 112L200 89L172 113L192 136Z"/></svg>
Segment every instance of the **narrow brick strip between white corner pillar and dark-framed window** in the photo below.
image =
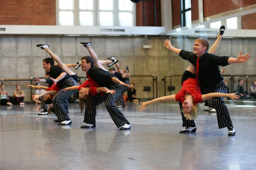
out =
<svg viewBox="0 0 256 170"><path fill-rule="evenodd" d="M180 0L172 0L172 25L181 25Z"/></svg>

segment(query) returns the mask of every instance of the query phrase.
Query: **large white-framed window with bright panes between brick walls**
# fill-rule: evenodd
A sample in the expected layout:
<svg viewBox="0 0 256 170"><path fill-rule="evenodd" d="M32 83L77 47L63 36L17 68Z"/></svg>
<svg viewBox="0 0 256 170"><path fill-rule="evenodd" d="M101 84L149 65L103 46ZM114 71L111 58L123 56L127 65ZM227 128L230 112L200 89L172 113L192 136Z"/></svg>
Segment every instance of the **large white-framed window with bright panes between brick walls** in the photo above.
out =
<svg viewBox="0 0 256 170"><path fill-rule="evenodd" d="M57 0L56 24L134 26L134 9L130 0Z"/></svg>

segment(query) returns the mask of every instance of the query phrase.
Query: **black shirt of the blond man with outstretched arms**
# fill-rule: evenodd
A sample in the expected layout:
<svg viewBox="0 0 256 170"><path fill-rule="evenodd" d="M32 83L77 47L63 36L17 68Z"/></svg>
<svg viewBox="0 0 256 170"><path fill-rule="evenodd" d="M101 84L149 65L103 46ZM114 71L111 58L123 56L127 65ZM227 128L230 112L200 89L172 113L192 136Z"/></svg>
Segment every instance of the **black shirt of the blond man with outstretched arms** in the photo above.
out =
<svg viewBox="0 0 256 170"><path fill-rule="evenodd" d="M196 68L197 55L193 54L193 52L187 52L185 50L181 50L179 56L188 60L191 64L193 64ZM199 70L198 70L198 80L202 87L213 87L218 85L223 77L219 72L219 65L226 66L229 65L228 56L217 56L214 54L209 54L205 52L199 60Z"/></svg>

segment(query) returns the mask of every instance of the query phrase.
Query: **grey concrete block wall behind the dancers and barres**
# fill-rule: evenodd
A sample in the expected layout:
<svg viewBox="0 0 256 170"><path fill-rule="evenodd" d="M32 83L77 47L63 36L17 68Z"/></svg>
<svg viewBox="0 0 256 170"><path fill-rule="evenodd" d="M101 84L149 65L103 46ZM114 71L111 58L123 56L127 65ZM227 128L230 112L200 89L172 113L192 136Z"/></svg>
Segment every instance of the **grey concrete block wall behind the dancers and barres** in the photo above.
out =
<svg viewBox="0 0 256 170"><path fill-rule="evenodd" d="M168 51L163 46L164 40L168 36L148 36L148 44L152 49L145 50L143 36L1 36L0 37L0 78L30 78L43 77L43 59L49 57L44 51L36 47L37 44L47 43L50 50L56 53L63 63L76 63L81 57L89 55L89 52L82 47L81 41L91 41L92 48L100 60L108 57L116 57L122 69L129 67L131 75L155 75L158 77L158 97L164 95L164 84L162 78L169 75L182 75L189 66L189 62L182 60L176 54ZM171 42L176 48L187 51L193 50L195 37L172 37ZM215 38L208 38L213 45ZM211 46L210 45L210 46ZM237 57L240 50L243 54L250 53L249 62L244 64L232 64L226 66L225 74L256 74L256 39L227 39L223 38L217 55L227 55ZM105 66L105 68L108 68ZM220 67L221 68L221 67ZM85 76L79 68L71 68L78 76ZM256 79L256 78L255 78ZM181 78L173 78L176 90L181 88ZM169 81L169 78L167 79ZM130 78L130 82L135 83L137 97L152 98L152 78ZM30 81L4 82L13 84L7 86L9 95L15 90L16 84L29 84ZM251 83L251 82L250 82ZM250 85L249 83L249 85ZM144 86L150 86L151 92L145 93ZM166 84L166 94L169 83ZM26 101L30 100L30 89L21 86L26 93ZM34 93L34 91L33 91ZM155 91L156 97L156 91Z"/></svg>

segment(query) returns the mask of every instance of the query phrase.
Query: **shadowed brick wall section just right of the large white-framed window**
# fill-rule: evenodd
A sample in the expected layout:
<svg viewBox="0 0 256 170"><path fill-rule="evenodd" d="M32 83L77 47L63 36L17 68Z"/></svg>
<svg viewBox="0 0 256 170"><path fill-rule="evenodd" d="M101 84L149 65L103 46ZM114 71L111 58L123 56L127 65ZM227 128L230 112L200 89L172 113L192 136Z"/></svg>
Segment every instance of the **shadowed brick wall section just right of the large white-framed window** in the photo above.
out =
<svg viewBox="0 0 256 170"><path fill-rule="evenodd" d="M154 0L144 1L145 26L155 26L154 21ZM143 1L136 4L136 26L143 26ZM156 26L161 23L161 0L156 0Z"/></svg>

